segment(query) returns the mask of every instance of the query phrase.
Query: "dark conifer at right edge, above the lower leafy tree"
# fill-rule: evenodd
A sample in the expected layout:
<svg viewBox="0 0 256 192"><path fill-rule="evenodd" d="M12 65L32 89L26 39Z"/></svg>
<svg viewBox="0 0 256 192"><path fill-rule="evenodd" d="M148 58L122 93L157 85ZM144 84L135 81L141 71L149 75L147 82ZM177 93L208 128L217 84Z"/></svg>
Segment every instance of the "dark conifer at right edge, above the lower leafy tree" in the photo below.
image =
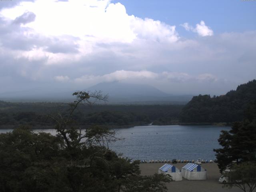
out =
<svg viewBox="0 0 256 192"><path fill-rule="evenodd" d="M250 103L244 114L242 122L236 122L230 131L222 131L218 139L223 148L214 151L220 172L233 161L256 161L256 101Z"/></svg>

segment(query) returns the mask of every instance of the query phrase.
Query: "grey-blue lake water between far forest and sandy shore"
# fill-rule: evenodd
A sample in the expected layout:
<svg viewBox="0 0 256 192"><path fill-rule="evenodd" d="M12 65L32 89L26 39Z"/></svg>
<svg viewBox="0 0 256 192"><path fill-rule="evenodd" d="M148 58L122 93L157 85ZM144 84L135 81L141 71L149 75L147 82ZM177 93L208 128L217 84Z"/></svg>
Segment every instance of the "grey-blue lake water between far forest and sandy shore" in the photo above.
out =
<svg viewBox="0 0 256 192"><path fill-rule="evenodd" d="M124 140L110 144L110 148L133 160L214 160L214 148L219 148L219 126L135 126L116 129ZM8 132L11 130L0 130ZM34 130L56 134L56 130Z"/></svg>

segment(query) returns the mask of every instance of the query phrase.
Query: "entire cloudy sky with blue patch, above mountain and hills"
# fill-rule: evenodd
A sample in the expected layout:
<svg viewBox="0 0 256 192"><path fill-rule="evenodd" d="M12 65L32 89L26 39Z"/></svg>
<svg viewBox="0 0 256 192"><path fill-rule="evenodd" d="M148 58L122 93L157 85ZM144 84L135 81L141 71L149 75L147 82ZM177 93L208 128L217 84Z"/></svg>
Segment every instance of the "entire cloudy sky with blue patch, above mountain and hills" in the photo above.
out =
<svg viewBox="0 0 256 192"><path fill-rule="evenodd" d="M0 1L0 94L149 84L221 95L256 78L255 0Z"/></svg>

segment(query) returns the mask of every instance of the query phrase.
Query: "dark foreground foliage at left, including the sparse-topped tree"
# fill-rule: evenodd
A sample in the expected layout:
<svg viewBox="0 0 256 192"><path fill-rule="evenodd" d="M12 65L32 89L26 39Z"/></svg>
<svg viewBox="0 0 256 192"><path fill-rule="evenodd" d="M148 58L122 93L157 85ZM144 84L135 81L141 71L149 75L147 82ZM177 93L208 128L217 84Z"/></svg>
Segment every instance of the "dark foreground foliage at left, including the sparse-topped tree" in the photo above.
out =
<svg viewBox="0 0 256 192"><path fill-rule="evenodd" d="M0 191L120 192L133 186L134 191L165 192L165 176L140 176L138 161L130 163L108 148L118 139L114 131L94 126L83 133L73 119L80 104L105 97L74 95L68 113L47 115L56 123L56 136L28 127L0 134Z"/></svg>

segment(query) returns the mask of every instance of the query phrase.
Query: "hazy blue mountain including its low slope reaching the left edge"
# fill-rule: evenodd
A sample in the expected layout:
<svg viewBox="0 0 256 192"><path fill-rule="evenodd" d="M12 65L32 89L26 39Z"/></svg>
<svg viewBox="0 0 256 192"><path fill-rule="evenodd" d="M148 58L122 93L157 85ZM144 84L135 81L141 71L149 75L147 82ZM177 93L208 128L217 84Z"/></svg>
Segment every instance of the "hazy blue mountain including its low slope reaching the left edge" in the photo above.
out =
<svg viewBox="0 0 256 192"><path fill-rule="evenodd" d="M82 90L82 89L81 89ZM128 84L121 82L100 83L87 88L91 92L102 91L108 94L108 104L186 104L192 95L171 95L150 85ZM33 88L30 90L5 92L0 100L11 102L72 102L76 90L53 88ZM103 103L99 103L103 104Z"/></svg>

